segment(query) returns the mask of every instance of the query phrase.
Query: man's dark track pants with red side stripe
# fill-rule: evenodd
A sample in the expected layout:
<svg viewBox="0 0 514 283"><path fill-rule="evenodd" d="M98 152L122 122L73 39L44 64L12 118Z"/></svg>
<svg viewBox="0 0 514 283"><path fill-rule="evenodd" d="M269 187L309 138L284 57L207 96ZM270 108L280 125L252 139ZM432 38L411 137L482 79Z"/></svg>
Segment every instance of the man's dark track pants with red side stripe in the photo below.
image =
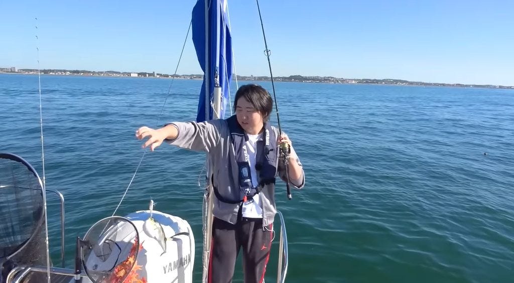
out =
<svg viewBox="0 0 514 283"><path fill-rule="evenodd" d="M245 283L262 283L269 259L273 224L263 228L262 219L241 218L236 224L214 217L209 263L209 283L230 283L235 260L243 248Z"/></svg>

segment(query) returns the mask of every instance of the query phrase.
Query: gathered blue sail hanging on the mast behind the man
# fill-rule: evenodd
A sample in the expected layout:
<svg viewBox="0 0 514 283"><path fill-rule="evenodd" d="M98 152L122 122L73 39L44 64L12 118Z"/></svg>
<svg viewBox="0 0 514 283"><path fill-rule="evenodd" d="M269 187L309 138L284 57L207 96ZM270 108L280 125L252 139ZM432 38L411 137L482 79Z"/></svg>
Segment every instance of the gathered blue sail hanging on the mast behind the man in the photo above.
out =
<svg viewBox="0 0 514 283"><path fill-rule="evenodd" d="M208 11L205 16L205 2L208 2ZM215 77L218 76L219 86L222 90L222 103L220 118L225 117L227 101L229 99L230 82L232 80L232 37L227 14L227 0L198 0L193 8L193 44L196 56L204 71L204 82L198 101L196 121L201 122L213 119L211 107L212 95L215 86ZM206 23L208 34L206 35ZM206 40L208 44L206 44ZM208 52L206 52L206 49ZM207 56L207 60L206 60ZM207 63L208 62L208 63ZM206 64L208 64L206 66ZM207 81L207 86L206 86ZM206 117L206 88L208 88L209 114Z"/></svg>

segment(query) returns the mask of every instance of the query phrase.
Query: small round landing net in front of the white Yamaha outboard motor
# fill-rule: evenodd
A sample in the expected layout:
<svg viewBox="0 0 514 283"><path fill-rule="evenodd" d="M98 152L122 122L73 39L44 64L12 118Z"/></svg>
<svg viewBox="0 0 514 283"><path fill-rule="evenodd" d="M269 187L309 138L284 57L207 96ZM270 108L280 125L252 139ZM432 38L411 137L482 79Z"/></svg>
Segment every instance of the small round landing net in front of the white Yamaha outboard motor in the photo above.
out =
<svg viewBox="0 0 514 283"><path fill-rule="evenodd" d="M82 264L91 281L123 282L135 273L139 233L124 217L107 217L95 223L83 239Z"/></svg>

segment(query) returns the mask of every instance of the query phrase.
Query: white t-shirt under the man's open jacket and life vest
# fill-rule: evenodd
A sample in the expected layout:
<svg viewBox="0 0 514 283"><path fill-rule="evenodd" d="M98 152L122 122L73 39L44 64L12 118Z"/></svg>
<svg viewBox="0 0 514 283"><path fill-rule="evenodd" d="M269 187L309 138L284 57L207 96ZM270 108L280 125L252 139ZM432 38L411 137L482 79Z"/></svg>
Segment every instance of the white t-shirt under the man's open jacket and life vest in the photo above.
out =
<svg viewBox="0 0 514 283"><path fill-rule="evenodd" d="M250 174L252 176L252 185L254 187L259 185L259 176L257 176L257 171L255 169L257 141L259 140L262 140L262 134L248 135L248 141L245 144L248 150L248 163L250 165ZM243 217L262 218L262 203L259 198L259 194L256 194L251 200L243 203L242 214Z"/></svg>

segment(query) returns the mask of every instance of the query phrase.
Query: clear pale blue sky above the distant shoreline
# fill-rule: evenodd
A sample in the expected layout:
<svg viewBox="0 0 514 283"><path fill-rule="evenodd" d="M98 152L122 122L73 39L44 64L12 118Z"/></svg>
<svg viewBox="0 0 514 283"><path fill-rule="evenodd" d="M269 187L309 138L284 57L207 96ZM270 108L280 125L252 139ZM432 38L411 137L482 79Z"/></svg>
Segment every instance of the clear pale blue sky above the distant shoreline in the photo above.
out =
<svg viewBox="0 0 514 283"><path fill-rule="evenodd" d="M0 0L0 67L36 68L39 46L41 68L173 73L194 3ZM274 76L514 85L512 0L260 5ZM269 76L255 2L229 12L236 72ZM178 73L201 73L191 34Z"/></svg>

